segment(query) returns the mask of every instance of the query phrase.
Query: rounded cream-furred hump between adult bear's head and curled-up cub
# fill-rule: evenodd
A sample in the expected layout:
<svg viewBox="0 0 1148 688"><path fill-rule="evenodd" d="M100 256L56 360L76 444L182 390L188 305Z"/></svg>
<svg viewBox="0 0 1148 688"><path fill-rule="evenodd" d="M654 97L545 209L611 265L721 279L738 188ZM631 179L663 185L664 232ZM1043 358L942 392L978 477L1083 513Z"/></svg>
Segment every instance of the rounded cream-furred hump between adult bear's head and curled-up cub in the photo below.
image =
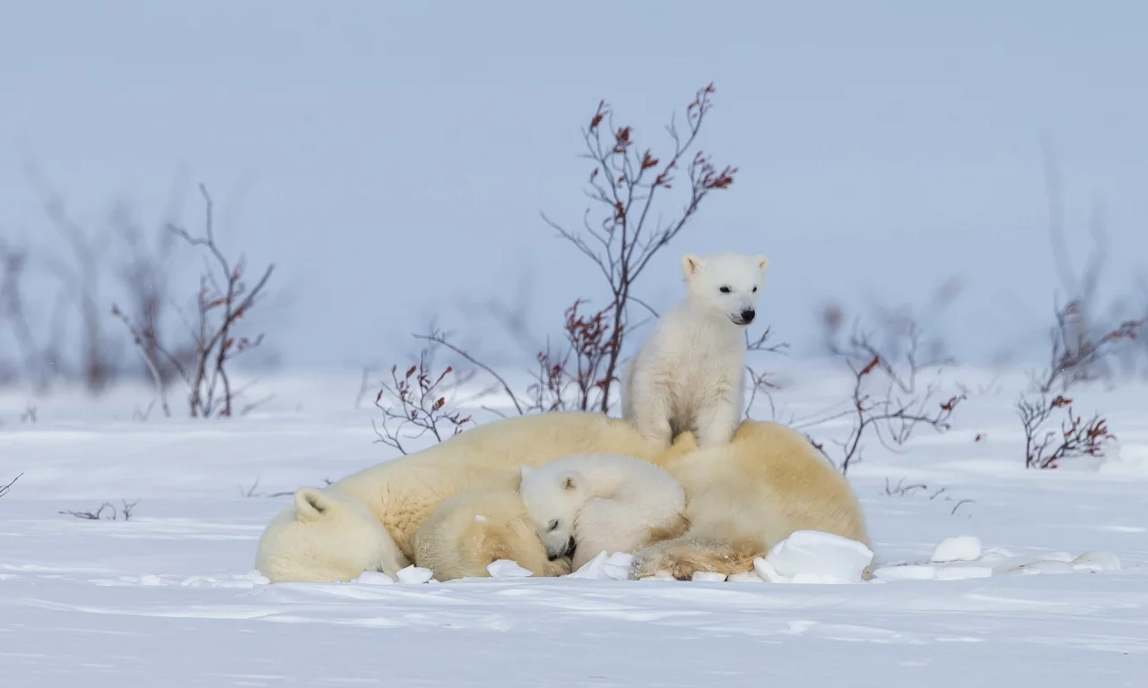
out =
<svg viewBox="0 0 1148 688"><path fill-rule="evenodd" d="M484 576L498 560L512 560L537 577L571 572L568 556L548 556L522 498L509 483L448 499L414 531L413 542L414 561L440 581L476 571Z"/></svg>

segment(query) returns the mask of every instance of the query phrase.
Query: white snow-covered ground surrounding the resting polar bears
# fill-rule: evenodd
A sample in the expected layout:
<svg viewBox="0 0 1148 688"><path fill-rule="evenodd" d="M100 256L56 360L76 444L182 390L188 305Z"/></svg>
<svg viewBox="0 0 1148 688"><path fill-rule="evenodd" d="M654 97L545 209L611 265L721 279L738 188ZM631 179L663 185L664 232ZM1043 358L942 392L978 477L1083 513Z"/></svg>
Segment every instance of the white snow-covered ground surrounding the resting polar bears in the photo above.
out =
<svg viewBox="0 0 1148 688"><path fill-rule="evenodd" d="M883 565L925 564L952 535L985 558L855 585L263 585L273 493L393 456L370 401L352 408L357 380L266 380L276 398L230 422L133 420L146 389L31 399L22 422L30 399L9 392L0 485L23 476L0 498L0 686L1145 686L1148 388L1079 396L1108 413L1111 461L1025 471L1018 380L970 373L949 433L903 454L870 441L851 470ZM792 375L779 419L847 382ZM61 514L121 500L139 500L127 522ZM1085 553L1110 568L1104 552L1120 570L1063 572ZM1046 563L1021 574L1008 554Z"/></svg>

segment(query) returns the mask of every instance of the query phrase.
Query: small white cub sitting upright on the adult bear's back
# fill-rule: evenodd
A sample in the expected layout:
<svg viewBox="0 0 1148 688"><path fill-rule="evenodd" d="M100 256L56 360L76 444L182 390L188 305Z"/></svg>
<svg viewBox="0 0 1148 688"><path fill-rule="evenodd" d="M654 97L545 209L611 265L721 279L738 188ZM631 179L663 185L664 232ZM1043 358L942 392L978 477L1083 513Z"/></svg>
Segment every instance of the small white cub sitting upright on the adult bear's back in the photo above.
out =
<svg viewBox="0 0 1148 688"><path fill-rule="evenodd" d="M745 405L745 328L757 314L765 256L682 257L687 296L627 366L622 417L669 446L691 430L699 446L729 441Z"/></svg>

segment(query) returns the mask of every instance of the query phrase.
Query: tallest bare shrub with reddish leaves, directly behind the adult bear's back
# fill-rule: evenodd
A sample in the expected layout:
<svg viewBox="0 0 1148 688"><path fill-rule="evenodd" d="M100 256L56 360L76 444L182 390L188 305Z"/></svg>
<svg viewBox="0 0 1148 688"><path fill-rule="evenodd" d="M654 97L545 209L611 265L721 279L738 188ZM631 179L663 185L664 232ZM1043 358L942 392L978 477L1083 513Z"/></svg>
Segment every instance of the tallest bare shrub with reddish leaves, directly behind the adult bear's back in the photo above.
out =
<svg viewBox="0 0 1148 688"><path fill-rule="evenodd" d="M605 101L582 128L581 157L591 162L584 189L591 206L577 229L545 213L542 218L602 275L608 299L600 308L583 311L590 302L579 298L566 310L563 341L548 338L538 349L533 382L525 392L515 391L479 357L442 333L421 338L450 349L490 376L492 386L507 394L519 414L574 408L607 413L616 396L627 336L643 323L639 316L657 316L635 291L638 279L693 219L701 202L712 191L729 188L737 173L736 167L718 166L707 154L693 150L713 93L712 84L696 93L685 108L684 127L678 127L676 117L670 119L666 130L672 146L665 154L639 147L634 127L616 124ZM684 187L683 204L667 210L670 190L680 183Z"/></svg>

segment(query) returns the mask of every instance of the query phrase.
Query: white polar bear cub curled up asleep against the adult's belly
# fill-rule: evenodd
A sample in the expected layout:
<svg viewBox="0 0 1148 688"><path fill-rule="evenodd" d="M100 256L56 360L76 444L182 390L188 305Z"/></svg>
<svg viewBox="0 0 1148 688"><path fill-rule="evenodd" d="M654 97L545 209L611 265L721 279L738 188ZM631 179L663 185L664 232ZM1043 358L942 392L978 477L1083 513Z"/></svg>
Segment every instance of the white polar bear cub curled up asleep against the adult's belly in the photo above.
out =
<svg viewBox="0 0 1148 688"><path fill-rule="evenodd" d="M579 454L521 467L519 493L546 557L577 570L598 553L637 552L689 525L685 491L657 466L620 454Z"/></svg>

